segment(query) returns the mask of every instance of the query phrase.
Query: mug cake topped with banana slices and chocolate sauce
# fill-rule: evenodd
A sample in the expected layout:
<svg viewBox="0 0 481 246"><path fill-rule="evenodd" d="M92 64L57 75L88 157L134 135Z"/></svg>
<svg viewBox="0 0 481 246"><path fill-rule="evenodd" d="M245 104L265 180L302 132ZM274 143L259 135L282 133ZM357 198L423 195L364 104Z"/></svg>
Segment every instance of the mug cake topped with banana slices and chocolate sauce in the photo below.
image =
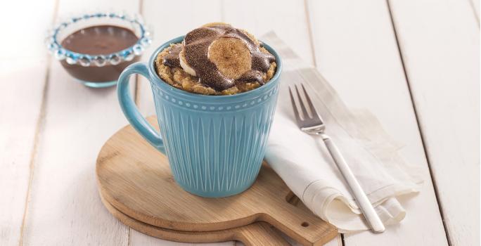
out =
<svg viewBox="0 0 481 246"><path fill-rule="evenodd" d="M276 73L276 59L247 31L214 22L165 48L155 59L155 69L178 89L232 95L268 83Z"/></svg>

